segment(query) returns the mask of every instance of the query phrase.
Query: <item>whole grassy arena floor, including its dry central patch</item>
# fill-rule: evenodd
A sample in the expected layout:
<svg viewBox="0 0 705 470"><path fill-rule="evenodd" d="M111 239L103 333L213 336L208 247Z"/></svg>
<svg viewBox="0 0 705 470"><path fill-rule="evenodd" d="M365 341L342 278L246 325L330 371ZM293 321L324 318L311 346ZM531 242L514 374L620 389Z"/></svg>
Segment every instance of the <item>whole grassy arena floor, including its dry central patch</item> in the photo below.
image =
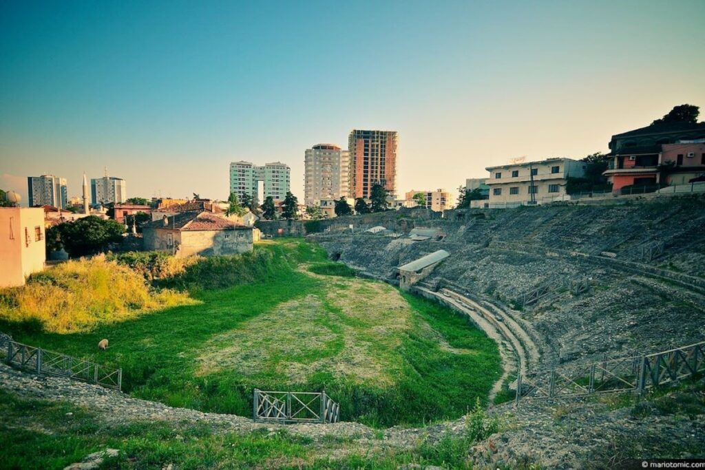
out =
<svg viewBox="0 0 705 470"><path fill-rule="evenodd" d="M75 333L15 321L0 330L119 366L135 397L243 416L255 387L326 390L341 419L419 425L485 403L501 374L496 344L464 318L355 278L317 245L264 242L243 260L209 259L172 280L188 287L189 304Z"/></svg>

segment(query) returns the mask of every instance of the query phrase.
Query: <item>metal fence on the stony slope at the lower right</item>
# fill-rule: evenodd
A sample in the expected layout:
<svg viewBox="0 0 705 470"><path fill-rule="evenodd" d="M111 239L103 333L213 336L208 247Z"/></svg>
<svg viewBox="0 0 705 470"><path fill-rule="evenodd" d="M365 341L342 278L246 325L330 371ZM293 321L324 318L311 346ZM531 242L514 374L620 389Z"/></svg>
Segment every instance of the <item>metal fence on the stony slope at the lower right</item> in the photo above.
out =
<svg viewBox="0 0 705 470"><path fill-rule="evenodd" d="M603 392L644 392L703 371L705 341L646 356L605 358L589 364L520 374L516 402Z"/></svg>

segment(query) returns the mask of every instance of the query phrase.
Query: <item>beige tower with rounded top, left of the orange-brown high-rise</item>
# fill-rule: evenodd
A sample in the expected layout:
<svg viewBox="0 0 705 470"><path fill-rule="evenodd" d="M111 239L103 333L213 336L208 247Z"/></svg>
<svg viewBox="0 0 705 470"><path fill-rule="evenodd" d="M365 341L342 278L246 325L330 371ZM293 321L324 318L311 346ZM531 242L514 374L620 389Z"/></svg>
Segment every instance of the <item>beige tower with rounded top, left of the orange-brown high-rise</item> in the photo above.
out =
<svg viewBox="0 0 705 470"><path fill-rule="evenodd" d="M350 192L350 154L336 144L316 144L305 152L304 200L307 206L321 199L340 199Z"/></svg>

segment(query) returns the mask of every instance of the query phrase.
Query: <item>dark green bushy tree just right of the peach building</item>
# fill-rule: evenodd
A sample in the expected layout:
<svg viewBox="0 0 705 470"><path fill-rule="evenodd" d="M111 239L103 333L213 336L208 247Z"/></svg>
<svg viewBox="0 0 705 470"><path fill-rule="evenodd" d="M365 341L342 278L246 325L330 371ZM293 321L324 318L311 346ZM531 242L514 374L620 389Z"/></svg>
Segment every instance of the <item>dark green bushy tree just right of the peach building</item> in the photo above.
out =
<svg viewBox="0 0 705 470"><path fill-rule="evenodd" d="M125 227L112 219L106 221L97 216L79 218L55 226L58 245L72 257L104 252L110 243L120 242ZM54 234L51 234L54 236Z"/></svg>

